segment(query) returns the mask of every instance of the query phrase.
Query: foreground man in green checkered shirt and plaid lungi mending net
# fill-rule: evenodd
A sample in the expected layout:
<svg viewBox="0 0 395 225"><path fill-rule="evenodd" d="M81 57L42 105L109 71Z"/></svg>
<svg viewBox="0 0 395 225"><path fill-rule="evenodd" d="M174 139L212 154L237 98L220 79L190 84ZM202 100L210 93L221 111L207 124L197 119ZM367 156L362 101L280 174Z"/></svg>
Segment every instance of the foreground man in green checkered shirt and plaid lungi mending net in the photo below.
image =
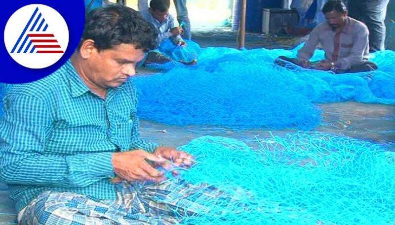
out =
<svg viewBox="0 0 395 225"><path fill-rule="evenodd" d="M180 197L169 195L183 186L162 182L163 172L152 165L189 166L191 156L140 138L129 79L156 37L133 9L95 9L71 60L48 77L8 90L0 180L10 187L19 224L180 222L174 215L182 209Z"/></svg>

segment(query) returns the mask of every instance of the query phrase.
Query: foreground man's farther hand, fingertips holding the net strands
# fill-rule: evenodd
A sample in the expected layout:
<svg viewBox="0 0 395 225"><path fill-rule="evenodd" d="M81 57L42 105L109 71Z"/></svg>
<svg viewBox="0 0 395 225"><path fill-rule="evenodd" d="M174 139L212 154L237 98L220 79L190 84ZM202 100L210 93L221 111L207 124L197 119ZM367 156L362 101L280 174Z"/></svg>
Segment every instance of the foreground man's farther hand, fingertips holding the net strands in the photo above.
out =
<svg viewBox="0 0 395 225"><path fill-rule="evenodd" d="M154 155L158 158L164 158L168 161L172 161L176 166L189 167L192 165L193 161L193 157L191 155L183 151L178 151L172 147L160 146L155 150Z"/></svg>

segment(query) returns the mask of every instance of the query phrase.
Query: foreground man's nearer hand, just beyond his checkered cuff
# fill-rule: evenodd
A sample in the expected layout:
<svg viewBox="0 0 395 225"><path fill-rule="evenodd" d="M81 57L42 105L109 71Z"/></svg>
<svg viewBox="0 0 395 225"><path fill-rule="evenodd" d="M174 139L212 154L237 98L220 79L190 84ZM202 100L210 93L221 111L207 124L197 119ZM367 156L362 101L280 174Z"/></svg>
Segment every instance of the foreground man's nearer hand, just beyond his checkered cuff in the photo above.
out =
<svg viewBox="0 0 395 225"><path fill-rule="evenodd" d="M163 172L152 167L146 160L161 164L165 160L143 150L120 152L113 154L113 167L117 174L114 183L126 181L154 181L163 180Z"/></svg>

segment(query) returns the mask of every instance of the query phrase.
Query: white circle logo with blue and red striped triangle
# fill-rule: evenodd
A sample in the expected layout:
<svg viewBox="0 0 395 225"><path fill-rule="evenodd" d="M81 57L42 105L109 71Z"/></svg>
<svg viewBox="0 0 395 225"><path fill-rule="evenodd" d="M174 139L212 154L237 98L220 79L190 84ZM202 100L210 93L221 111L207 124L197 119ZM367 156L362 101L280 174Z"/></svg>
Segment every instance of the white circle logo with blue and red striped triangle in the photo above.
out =
<svg viewBox="0 0 395 225"><path fill-rule="evenodd" d="M4 43L18 64L32 69L55 64L69 44L66 21L55 9L30 4L18 9L8 19Z"/></svg>

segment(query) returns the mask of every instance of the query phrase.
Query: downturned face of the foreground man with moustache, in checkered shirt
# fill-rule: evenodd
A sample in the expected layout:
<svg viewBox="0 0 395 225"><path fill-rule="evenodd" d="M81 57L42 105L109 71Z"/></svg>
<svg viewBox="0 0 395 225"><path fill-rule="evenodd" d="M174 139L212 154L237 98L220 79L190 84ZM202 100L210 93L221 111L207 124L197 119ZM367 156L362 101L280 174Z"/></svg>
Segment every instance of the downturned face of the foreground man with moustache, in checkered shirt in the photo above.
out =
<svg viewBox="0 0 395 225"><path fill-rule="evenodd" d="M94 85L117 88L136 74L136 64L144 59L144 51L133 44L120 44L111 49L92 51L88 59L87 78Z"/></svg>

